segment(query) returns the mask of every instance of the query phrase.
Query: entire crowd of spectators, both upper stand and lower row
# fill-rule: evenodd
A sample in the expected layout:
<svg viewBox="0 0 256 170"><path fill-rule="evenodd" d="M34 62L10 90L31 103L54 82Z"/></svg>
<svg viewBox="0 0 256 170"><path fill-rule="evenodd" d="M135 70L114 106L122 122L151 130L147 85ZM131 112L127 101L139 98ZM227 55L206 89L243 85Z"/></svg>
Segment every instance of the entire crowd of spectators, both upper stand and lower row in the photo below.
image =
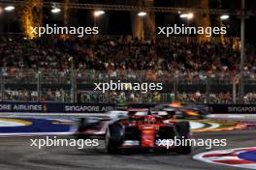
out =
<svg viewBox="0 0 256 170"><path fill-rule="evenodd" d="M6 76L22 72L41 72L41 83L72 84L69 78L76 71L79 78L106 79L115 75L122 78L141 78L142 81L177 81L180 84L231 84L240 72L240 49L232 43L182 42L170 39L139 41L131 37L114 39L80 38L41 38L35 40L20 37L0 38L0 67ZM246 46L244 71L256 82L256 51L251 45ZM138 74L137 72L144 72ZM95 72L104 72L99 76ZM37 75L29 75L36 79ZM86 81L87 81L86 79ZM31 79L26 79L31 82ZM80 81L82 82L82 81ZM36 83L36 82L35 82ZM26 90L6 91L5 98L35 100L35 93ZM46 100L64 101L70 99L70 92L48 89L43 96ZM97 100L98 97L83 95L84 100ZM104 99L105 97L102 97ZM112 99L124 99L137 102L142 97L138 94L112 94ZM161 100L159 94L152 94L152 100ZM199 92L179 94L178 99L205 102ZM210 94L209 99L216 102L231 102L230 93ZM256 100L255 93L248 93L244 100Z"/></svg>

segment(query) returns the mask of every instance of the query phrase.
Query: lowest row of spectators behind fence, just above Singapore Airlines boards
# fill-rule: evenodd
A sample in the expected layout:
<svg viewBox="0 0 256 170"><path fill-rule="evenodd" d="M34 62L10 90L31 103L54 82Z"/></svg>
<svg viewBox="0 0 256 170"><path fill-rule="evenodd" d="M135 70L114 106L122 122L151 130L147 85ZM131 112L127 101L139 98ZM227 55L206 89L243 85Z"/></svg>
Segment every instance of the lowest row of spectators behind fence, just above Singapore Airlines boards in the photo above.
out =
<svg viewBox="0 0 256 170"><path fill-rule="evenodd" d="M48 89L43 91L41 95L42 101L55 101L55 102L71 102L71 92L64 91L63 89ZM236 97L238 100L238 96ZM0 95L0 99L2 96ZM8 101L38 101L38 92L37 91L28 91L28 90L11 90L7 89L4 93L4 100ZM195 93L178 93L177 98L175 99L175 94L167 93L148 93L142 95L140 93L123 93L123 92L112 92L110 94L97 94L92 92L78 93L78 102L113 102L113 103L139 103L139 102L172 102L173 100L180 100L186 103L233 103L232 94L227 93L218 93L218 94L201 94L199 91ZM256 93L247 93L243 98L245 103L255 103L256 102Z"/></svg>

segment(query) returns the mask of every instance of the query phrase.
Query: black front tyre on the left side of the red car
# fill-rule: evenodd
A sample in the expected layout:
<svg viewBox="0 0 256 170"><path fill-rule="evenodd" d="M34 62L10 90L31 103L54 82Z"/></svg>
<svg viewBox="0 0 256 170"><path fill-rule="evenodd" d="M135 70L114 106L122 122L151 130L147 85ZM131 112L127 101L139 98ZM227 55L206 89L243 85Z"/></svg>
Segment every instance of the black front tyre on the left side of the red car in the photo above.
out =
<svg viewBox="0 0 256 170"><path fill-rule="evenodd" d="M107 128L105 144L109 154L118 154L118 149L124 141L124 128L119 123L113 123Z"/></svg>

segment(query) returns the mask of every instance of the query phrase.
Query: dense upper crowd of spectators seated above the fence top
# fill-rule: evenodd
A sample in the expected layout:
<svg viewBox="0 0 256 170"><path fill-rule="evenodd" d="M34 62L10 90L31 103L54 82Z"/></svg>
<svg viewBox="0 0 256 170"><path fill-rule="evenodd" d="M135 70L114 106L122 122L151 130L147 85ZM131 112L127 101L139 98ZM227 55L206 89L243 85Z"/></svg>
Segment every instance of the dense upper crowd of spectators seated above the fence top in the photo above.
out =
<svg viewBox="0 0 256 170"><path fill-rule="evenodd" d="M115 39L26 40L3 37L0 41L0 67L56 69L65 71L238 71L240 50L233 44L138 41ZM70 58L72 57L72 59ZM255 50L246 50L245 71L256 71ZM74 60L72 66L71 60Z"/></svg>

